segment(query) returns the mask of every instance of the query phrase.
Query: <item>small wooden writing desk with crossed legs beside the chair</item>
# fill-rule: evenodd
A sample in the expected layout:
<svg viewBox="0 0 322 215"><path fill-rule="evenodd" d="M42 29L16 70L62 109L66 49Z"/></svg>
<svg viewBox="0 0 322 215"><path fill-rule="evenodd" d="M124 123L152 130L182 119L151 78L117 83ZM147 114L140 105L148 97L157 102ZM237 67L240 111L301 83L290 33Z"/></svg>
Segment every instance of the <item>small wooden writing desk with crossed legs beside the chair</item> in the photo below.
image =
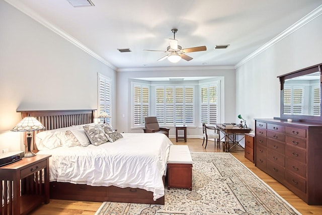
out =
<svg viewBox="0 0 322 215"><path fill-rule="evenodd" d="M234 146L239 145L239 141L245 138L245 133L249 133L251 128L240 128L239 126L224 126L223 124L217 124L217 128L225 135L224 151L229 152ZM229 138L232 135L232 138ZM236 140L236 135L244 135L240 140ZM232 147L229 148L229 139L232 142ZM241 146L240 146L241 147Z"/></svg>

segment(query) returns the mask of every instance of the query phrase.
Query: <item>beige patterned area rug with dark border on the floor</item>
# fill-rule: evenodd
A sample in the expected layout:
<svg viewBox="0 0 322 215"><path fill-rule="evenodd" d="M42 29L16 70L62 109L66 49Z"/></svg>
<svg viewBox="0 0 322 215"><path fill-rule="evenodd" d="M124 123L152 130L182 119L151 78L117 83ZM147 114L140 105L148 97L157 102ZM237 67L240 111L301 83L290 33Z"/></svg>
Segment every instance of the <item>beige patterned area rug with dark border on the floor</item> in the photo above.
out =
<svg viewBox="0 0 322 215"><path fill-rule="evenodd" d="M229 153L191 153L192 191L166 189L165 205L103 202L96 215L300 214Z"/></svg>

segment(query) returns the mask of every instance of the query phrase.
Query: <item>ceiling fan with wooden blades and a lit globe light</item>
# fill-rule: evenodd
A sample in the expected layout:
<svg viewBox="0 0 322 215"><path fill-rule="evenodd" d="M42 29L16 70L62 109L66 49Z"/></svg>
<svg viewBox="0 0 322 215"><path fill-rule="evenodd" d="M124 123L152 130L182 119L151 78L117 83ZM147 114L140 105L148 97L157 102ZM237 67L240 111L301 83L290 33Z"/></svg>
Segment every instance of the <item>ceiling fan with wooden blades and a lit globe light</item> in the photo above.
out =
<svg viewBox="0 0 322 215"><path fill-rule="evenodd" d="M164 60L168 58L170 62L178 62L181 58L184 60L192 60L193 58L186 55L185 53L188 52L195 52L195 51L206 51L206 46L198 46L198 47L192 47L192 48L182 48L180 45L178 45L178 40L176 40L176 33L178 32L178 29L172 29L173 33L173 39L170 40L170 46L167 47L167 51L157 51L157 50L143 50L143 51L157 51L157 52L165 52L169 53L168 55L158 59L157 61Z"/></svg>

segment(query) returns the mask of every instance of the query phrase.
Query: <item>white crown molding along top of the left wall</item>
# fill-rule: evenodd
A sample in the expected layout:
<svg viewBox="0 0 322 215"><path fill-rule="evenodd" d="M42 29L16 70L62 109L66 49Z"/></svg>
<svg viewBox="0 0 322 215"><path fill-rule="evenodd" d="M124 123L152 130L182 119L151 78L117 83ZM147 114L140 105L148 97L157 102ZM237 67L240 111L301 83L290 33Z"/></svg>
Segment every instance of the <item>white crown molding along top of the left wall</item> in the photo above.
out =
<svg viewBox="0 0 322 215"><path fill-rule="evenodd" d="M98 59L102 63L106 64L110 68L116 70L116 67L114 65L112 65L110 62L108 62L106 59L104 59L103 57L101 57L100 55L98 55L97 53L95 53L93 50L91 50L89 47L85 46L84 44L82 44L81 42L79 42L78 40L76 40L74 37L70 36L69 34L67 34L66 32L64 32L63 30L57 28L56 26L54 26L51 23L49 23L47 20L45 20L42 17L40 17L39 15L37 15L34 11L30 10L25 5L23 5L23 3L21 1L5 0L5 2L7 2L8 4L10 4L14 8L18 9L22 13L26 14L27 16L31 17L35 21L39 22L43 26L47 27L51 31L55 32L59 36L63 37L67 41L71 42L72 44L74 44L78 48L81 48L83 51L85 51L88 54L90 54L91 56L95 57L96 59Z"/></svg>

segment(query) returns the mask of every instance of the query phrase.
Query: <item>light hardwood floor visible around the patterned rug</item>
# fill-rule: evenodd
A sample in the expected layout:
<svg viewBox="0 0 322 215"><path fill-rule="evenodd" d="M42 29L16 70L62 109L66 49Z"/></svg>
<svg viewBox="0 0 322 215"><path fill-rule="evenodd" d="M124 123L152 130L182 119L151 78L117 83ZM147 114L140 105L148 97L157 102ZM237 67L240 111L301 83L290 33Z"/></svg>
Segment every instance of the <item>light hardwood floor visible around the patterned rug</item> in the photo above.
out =
<svg viewBox="0 0 322 215"><path fill-rule="evenodd" d="M171 139L174 144L188 145L190 152L222 152L222 147L214 146L213 141L208 142L205 150L202 145L202 139L187 139L187 142L176 142L176 139ZM311 206L303 202L299 197L294 195L290 190L281 185L275 179L255 167L255 165L244 157L244 152L232 152L231 154L241 163L247 166L258 177L271 186L280 196L288 201L302 214L322 214L322 206ZM43 204L34 210L31 214L38 215L71 215L71 214L94 214L101 206L102 202L84 202L84 201L66 201L50 199L49 204Z"/></svg>

